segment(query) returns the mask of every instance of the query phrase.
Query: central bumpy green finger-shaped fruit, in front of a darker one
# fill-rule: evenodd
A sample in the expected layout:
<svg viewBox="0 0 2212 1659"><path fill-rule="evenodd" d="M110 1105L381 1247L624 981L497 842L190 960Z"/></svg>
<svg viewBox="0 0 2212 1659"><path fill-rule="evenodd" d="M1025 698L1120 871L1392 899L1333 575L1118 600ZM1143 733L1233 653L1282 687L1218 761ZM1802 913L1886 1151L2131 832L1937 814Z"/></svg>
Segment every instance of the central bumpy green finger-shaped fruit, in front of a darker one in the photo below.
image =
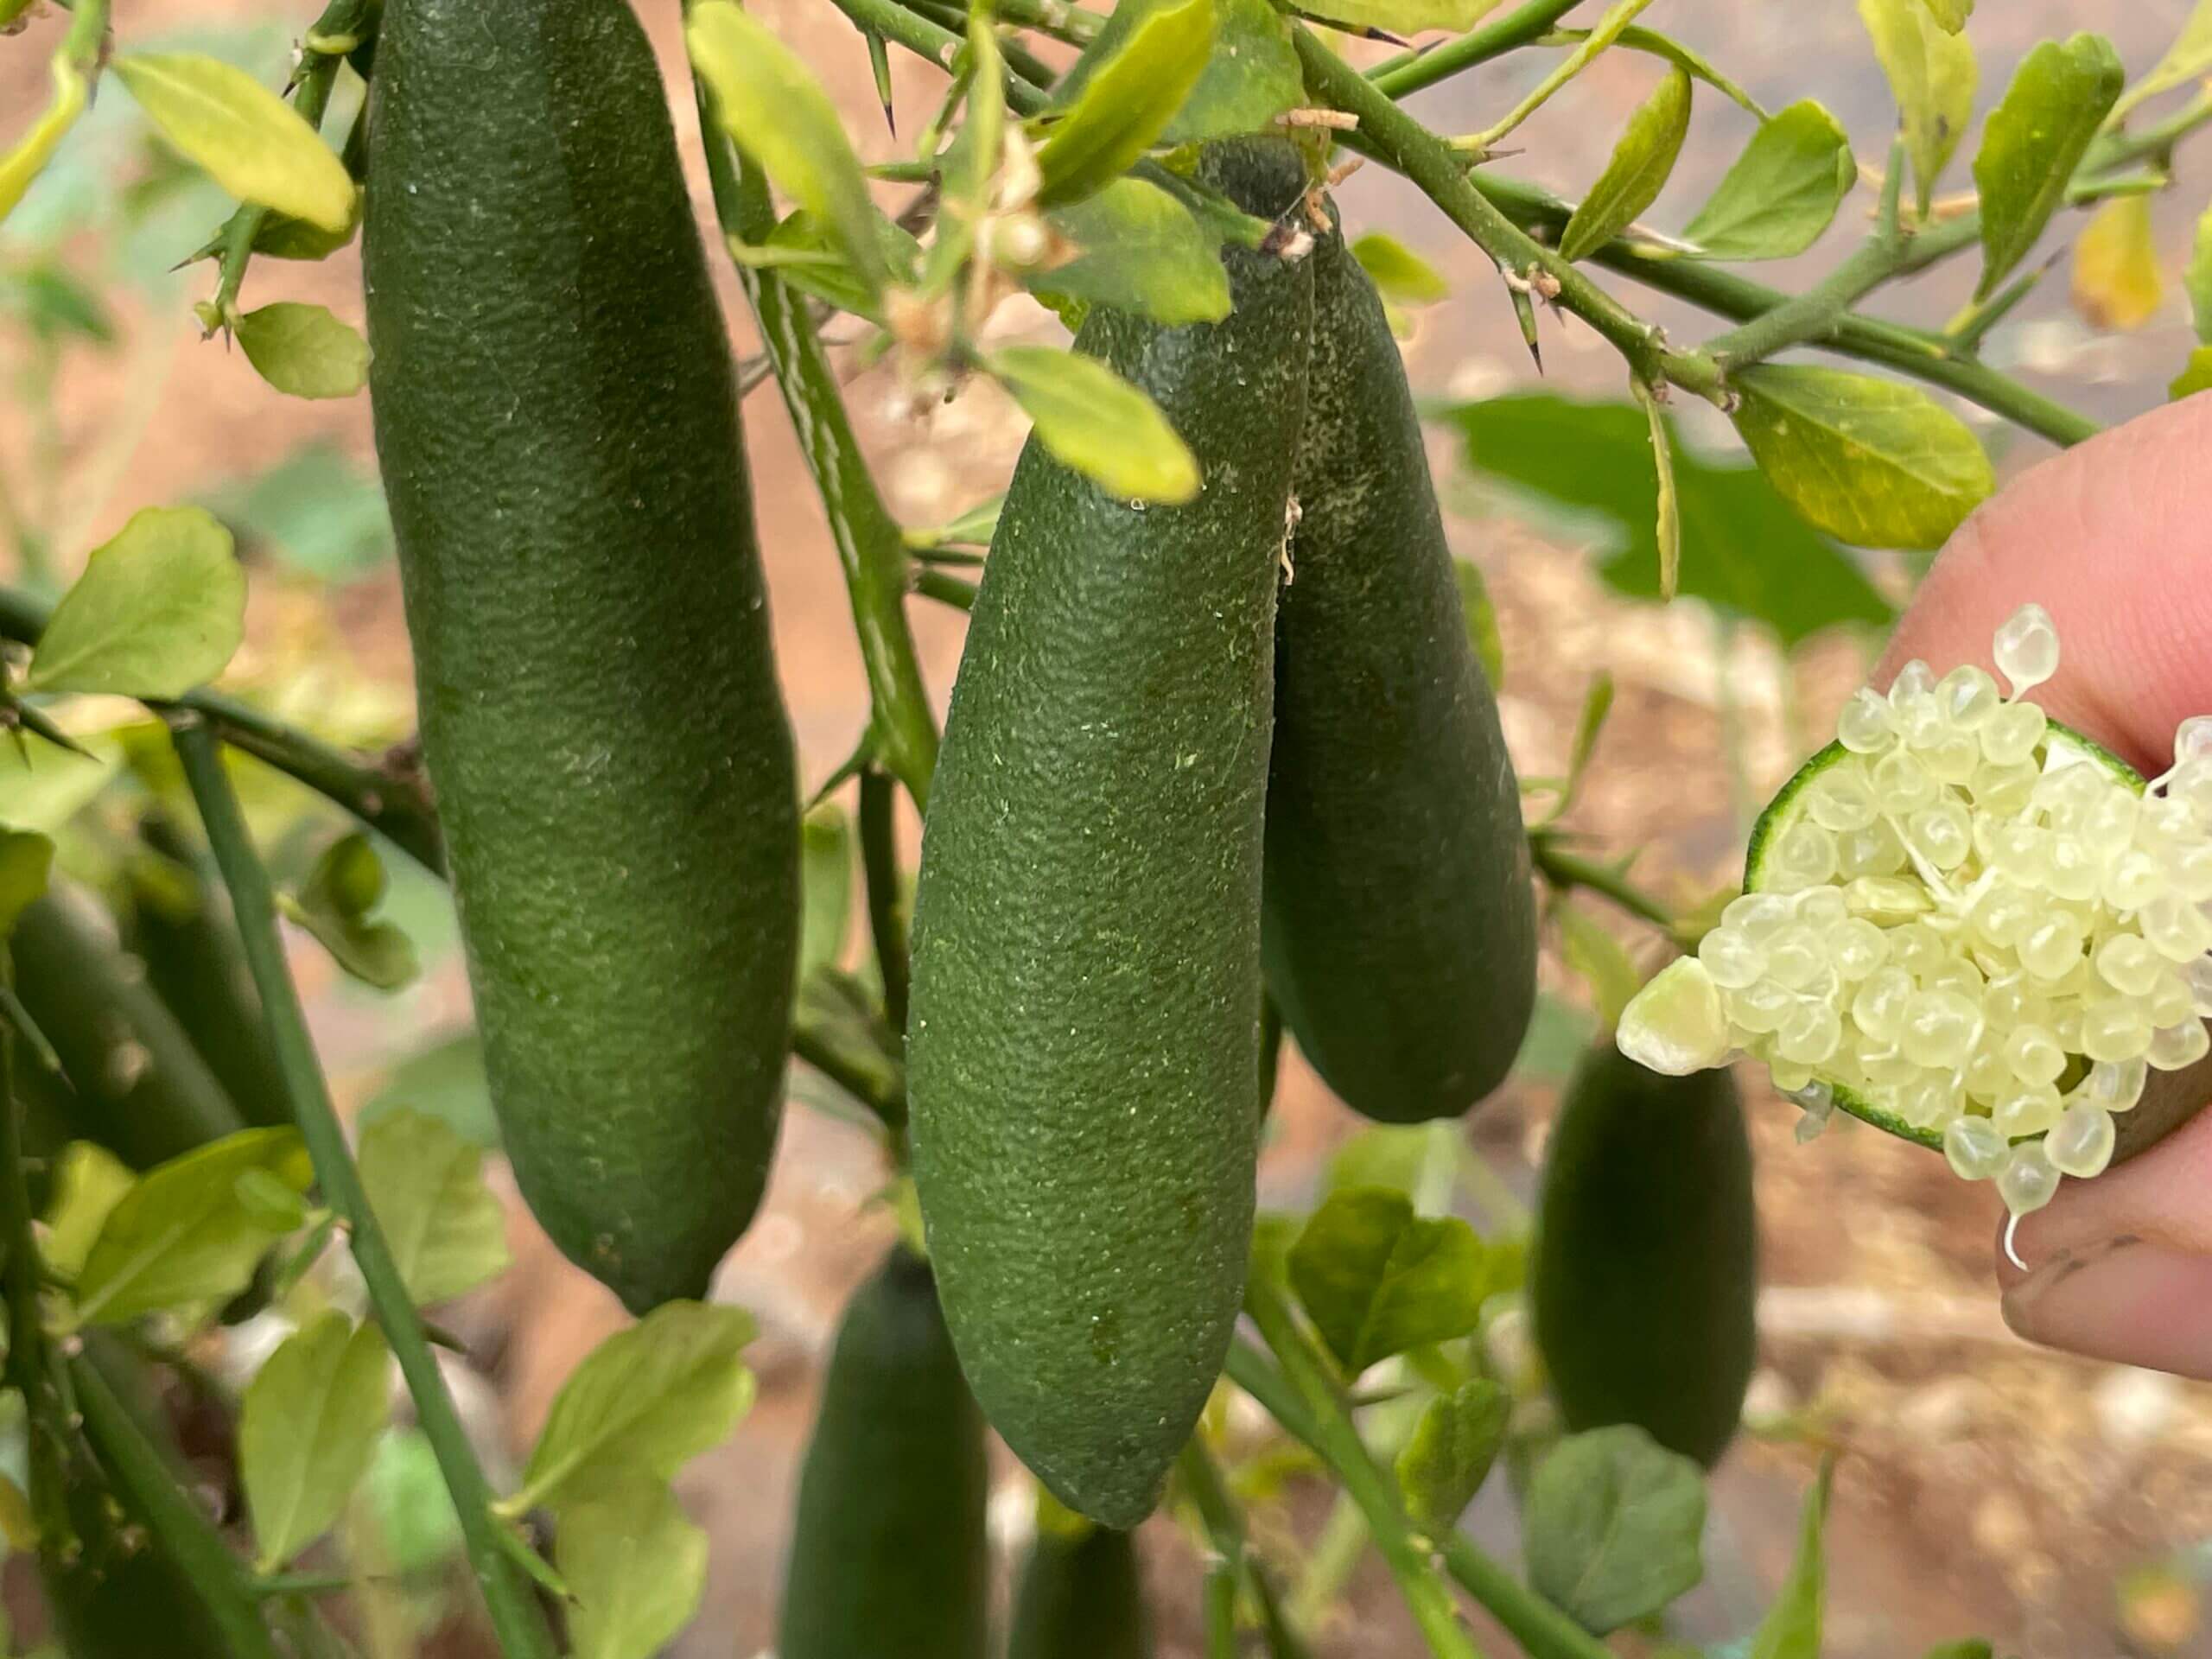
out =
<svg viewBox="0 0 2212 1659"><path fill-rule="evenodd" d="M1228 146L1248 210L1287 144ZM1274 593L1307 261L1230 250L1234 314L1075 343L1190 442L1130 507L1031 440L953 686L914 905L914 1175L960 1363L1071 1509L1137 1524L1228 1352L1252 1232Z"/></svg>

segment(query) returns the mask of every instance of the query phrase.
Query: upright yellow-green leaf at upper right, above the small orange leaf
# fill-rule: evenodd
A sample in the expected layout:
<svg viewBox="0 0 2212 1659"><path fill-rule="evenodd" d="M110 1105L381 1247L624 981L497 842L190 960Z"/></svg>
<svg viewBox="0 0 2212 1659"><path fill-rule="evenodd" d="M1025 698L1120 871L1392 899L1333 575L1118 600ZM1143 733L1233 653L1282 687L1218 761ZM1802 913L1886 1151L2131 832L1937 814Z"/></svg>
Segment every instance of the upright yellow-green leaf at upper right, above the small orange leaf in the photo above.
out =
<svg viewBox="0 0 2212 1659"><path fill-rule="evenodd" d="M1982 126L1973 181L1982 192L1982 281L1975 301L1995 292L2028 257L2051 215L2066 201L2081 155L2119 97L2126 71L2104 35L2046 40L2031 51Z"/></svg>

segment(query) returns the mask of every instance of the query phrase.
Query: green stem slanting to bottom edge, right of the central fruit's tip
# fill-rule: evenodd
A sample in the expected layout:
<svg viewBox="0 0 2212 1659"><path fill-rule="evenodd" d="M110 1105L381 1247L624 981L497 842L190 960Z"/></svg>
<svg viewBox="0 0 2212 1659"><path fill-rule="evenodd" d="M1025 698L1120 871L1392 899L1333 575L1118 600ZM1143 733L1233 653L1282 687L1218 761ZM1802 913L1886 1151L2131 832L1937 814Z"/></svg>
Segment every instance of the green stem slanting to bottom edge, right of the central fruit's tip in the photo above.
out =
<svg viewBox="0 0 2212 1659"><path fill-rule="evenodd" d="M1327 1363L1296 1327L1290 1307L1267 1285L1245 1287L1245 1312L1259 1325L1261 1338L1274 1349L1276 1371L1243 1343L1230 1345L1230 1380L1259 1400L1267 1413L1296 1440L1312 1447L1352 1500L1367 1515L1376 1553L1398 1582L1407 1613L1420 1628L1436 1659L1482 1659L1482 1648L1460 1617L1451 1590L1429 1564L1429 1553L1413 1540L1398 1502L1396 1484L1367 1453L1352 1413L1345 1409Z"/></svg>

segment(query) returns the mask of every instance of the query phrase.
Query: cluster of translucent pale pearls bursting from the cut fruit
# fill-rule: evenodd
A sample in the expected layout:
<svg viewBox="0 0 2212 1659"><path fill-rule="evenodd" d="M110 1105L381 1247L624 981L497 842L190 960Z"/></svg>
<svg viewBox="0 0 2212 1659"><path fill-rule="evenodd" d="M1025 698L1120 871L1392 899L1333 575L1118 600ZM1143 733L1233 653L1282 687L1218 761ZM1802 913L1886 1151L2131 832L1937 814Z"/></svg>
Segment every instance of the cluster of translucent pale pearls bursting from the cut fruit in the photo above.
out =
<svg viewBox="0 0 2212 1659"><path fill-rule="evenodd" d="M1765 1060L1807 1128L1849 1088L1940 1133L2020 1217L2104 1170L2150 1071L2212 1046L2212 717L2137 794L2022 699L2059 661L2042 606L1995 661L2011 699L1922 661L1858 690L1840 754L1776 814L1759 891L1679 964L1692 984L1652 991L1701 1011L1708 1051Z"/></svg>

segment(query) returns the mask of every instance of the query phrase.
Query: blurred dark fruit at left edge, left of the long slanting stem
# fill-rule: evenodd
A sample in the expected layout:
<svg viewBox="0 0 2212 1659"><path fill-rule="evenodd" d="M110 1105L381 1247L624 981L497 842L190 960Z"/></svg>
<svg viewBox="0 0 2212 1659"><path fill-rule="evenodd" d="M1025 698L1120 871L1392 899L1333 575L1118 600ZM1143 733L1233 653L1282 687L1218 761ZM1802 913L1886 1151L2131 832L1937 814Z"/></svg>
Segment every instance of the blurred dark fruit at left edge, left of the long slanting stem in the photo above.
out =
<svg viewBox="0 0 2212 1659"><path fill-rule="evenodd" d="M18 1068L40 1115L69 1139L97 1141L144 1170L246 1126L82 891L55 887L33 900L9 949L15 995L60 1055L69 1093L44 1086L29 1053L18 1053Z"/></svg>

